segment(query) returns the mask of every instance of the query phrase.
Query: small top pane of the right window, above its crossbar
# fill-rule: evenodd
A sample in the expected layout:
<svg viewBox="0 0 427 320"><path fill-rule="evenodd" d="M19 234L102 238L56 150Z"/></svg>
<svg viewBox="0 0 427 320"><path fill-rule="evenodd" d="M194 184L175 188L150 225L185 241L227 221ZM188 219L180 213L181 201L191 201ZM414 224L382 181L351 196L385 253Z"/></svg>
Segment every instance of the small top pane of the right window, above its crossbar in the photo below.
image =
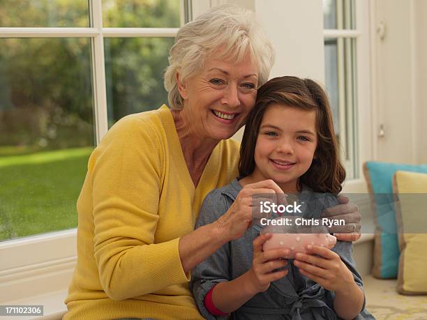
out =
<svg viewBox="0 0 427 320"><path fill-rule="evenodd" d="M356 29L354 0L323 0L324 29Z"/></svg>

